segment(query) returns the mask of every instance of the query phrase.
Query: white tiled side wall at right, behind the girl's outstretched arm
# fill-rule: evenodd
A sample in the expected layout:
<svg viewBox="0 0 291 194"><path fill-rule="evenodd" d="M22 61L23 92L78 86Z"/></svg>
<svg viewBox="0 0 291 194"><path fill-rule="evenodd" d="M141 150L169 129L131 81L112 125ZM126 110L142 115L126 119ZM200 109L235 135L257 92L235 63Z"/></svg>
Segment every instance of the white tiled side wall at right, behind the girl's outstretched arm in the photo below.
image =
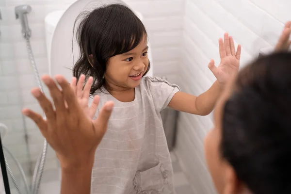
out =
<svg viewBox="0 0 291 194"><path fill-rule="evenodd" d="M242 45L242 66L260 48L274 46L283 23L291 19L290 7L290 0L185 0L181 89L199 95L215 81L207 65L211 58L219 65L218 38L224 32ZM212 115L181 113L178 121L176 153L197 194L215 193L203 154L203 139L212 125Z"/></svg>

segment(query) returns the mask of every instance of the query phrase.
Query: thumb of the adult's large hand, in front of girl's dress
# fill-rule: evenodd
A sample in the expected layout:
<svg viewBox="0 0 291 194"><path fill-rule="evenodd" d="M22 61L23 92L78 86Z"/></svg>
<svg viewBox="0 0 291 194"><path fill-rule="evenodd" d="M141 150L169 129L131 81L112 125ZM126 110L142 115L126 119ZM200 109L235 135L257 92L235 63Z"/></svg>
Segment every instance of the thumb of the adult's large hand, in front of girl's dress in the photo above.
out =
<svg viewBox="0 0 291 194"><path fill-rule="evenodd" d="M94 125L98 127L100 132L105 133L108 125L109 118L113 110L114 103L112 101L106 102L101 108L97 119L94 121Z"/></svg>

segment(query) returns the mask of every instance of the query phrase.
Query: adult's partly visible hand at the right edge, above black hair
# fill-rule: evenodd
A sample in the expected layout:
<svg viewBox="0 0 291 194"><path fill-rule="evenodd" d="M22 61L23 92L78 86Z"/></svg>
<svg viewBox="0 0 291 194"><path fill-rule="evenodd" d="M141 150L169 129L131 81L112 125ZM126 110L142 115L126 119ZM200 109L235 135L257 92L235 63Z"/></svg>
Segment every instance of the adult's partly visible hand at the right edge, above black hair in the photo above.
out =
<svg viewBox="0 0 291 194"><path fill-rule="evenodd" d="M285 24L283 32L275 46L275 51L287 51L290 48L291 41L289 40L291 34L291 21Z"/></svg>

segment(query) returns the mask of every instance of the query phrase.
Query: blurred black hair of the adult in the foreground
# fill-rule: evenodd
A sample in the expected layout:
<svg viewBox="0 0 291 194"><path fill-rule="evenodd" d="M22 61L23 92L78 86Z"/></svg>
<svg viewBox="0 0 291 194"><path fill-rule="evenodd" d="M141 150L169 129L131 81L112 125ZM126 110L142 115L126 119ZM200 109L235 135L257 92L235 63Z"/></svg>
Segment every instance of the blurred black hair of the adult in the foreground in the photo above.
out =
<svg viewBox="0 0 291 194"><path fill-rule="evenodd" d="M253 194L291 194L291 53L246 66L226 101L222 156Z"/></svg>

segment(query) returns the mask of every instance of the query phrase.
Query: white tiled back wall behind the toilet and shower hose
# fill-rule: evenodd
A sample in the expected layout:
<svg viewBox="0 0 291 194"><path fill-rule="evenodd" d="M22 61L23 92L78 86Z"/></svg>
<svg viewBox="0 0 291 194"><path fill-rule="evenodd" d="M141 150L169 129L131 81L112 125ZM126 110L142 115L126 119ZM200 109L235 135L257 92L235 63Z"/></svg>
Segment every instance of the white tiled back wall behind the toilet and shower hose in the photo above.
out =
<svg viewBox="0 0 291 194"><path fill-rule="evenodd" d="M32 30L31 44L36 65L40 74L48 73L45 43L45 16L55 10L65 9L75 0L6 0L0 3L0 122L11 130L4 138L4 145L22 163L25 170L33 166L42 150L43 137L28 119L23 123L23 106L41 113L30 90L36 86L28 59L25 40L21 35L20 21L16 20L14 8L30 4L32 12L28 15ZM154 60L156 76L167 75L176 82L180 64L179 46L181 43L184 0L126 0L133 9L141 12L148 31ZM25 124L25 126L24 126ZM29 144L26 146L24 129L27 129ZM27 153L30 153L29 156ZM32 163L28 161L32 160ZM16 166L11 162L12 169ZM44 179L55 179L58 163L54 152L49 149ZM17 170L15 170L17 174Z"/></svg>

